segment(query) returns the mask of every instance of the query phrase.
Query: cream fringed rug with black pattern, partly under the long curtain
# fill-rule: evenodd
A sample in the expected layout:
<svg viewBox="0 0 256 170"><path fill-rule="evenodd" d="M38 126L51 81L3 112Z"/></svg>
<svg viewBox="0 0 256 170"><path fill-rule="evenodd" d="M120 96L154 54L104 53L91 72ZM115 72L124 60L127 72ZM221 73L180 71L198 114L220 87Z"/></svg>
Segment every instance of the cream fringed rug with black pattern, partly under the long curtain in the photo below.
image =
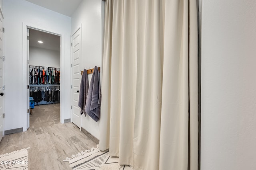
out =
<svg viewBox="0 0 256 170"><path fill-rule="evenodd" d="M109 150L97 148L82 151L66 158L73 170L132 170L128 165L119 165L118 157L109 156Z"/></svg>

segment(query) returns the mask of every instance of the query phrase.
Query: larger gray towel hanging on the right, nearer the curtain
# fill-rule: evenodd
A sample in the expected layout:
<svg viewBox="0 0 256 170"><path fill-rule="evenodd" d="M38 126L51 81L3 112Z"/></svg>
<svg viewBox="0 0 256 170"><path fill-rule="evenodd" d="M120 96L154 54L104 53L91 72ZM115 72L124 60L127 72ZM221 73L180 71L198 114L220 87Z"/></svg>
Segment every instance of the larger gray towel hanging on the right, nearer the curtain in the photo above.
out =
<svg viewBox="0 0 256 170"><path fill-rule="evenodd" d="M98 121L100 119L100 104L101 104L101 90L100 90L100 74L98 67L94 67L92 79L88 90L88 96L85 105L86 113Z"/></svg>

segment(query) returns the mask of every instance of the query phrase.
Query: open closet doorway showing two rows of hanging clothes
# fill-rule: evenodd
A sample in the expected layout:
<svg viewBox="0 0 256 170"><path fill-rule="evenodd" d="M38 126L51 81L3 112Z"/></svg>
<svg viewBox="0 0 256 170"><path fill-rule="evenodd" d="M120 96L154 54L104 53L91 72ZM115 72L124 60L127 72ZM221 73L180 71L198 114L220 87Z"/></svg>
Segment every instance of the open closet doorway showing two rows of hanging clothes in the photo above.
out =
<svg viewBox="0 0 256 170"><path fill-rule="evenodd" d="M28 127L60 123L60 36L28 29Z"/></svg>

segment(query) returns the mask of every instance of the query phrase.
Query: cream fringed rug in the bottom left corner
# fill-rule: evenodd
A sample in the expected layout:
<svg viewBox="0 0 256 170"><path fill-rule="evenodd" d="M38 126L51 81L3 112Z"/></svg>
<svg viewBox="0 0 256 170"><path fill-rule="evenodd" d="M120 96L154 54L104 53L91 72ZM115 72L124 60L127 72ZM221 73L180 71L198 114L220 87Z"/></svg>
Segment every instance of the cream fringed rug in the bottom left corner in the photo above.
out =
<svg viewBox="0 0 256 170"><path fill-rule="evenodd" d="M0 170L28 169L28 148L0 155Z"/></svg>

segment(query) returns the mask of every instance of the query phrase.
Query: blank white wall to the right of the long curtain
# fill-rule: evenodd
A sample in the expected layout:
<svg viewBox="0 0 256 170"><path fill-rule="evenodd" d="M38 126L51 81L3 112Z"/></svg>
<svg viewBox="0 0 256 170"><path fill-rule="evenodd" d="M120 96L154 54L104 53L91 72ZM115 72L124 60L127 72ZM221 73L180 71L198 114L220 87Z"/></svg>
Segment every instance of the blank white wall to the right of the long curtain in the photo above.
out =
<svg viewBox="0 0 256 170"><path fill-rule="evenodd" d="M256 1L202 1L201 170L255 170Z"/></svg>

